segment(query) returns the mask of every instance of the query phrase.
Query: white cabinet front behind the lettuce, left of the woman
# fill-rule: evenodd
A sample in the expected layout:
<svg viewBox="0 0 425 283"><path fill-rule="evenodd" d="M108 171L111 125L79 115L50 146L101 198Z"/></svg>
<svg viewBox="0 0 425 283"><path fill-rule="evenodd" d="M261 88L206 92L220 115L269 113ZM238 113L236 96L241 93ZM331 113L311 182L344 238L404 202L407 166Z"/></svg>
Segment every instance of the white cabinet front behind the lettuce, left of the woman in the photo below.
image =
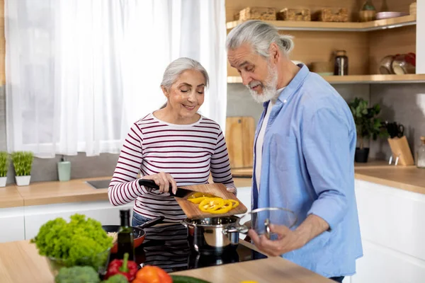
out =
<svg viewBox="0 0 425 283"><path fill-rule="evenodd" d="M102 225L119 225L120 209L130 209L131 217L132 207L133 203L113 207L108 201L72 202L25 207L25 238L28 240L36 236L40 226L49 220L63 217L66 221L69 221L69 216L76 213L94 218L100 221Z"/></svg>

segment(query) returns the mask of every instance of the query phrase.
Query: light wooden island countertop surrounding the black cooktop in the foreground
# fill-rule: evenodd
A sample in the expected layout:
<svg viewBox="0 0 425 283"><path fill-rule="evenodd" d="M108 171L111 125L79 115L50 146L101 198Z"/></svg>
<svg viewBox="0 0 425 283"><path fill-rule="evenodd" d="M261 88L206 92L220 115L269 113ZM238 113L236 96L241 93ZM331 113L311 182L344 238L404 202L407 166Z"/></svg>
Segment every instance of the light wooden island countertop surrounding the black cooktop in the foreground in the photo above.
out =
<svg viewBox="0 0 425 283"><path fill-rule="evenodd" d="M241 241L242 243L242 241ZM266 258L196 270L174 272L208 280L212 283L239 283L242 280L282 283L331 283L330 279L311 272L283 258ZM46 258L38 255L38 250L29 241L0 243L1 283L53 283Z"/></svg>

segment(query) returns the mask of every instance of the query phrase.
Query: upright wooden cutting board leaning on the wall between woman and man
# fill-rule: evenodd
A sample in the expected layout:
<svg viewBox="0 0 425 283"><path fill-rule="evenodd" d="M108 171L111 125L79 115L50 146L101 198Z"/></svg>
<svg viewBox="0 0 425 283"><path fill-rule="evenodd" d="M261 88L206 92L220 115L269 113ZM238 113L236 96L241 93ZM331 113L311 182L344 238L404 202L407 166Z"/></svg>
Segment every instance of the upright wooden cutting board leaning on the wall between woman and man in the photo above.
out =
<svg viewBox="0 0 425 283"><path fill-rule="evenodd" d="M231 168L253 166L254 117L238 116L226 118L226 144Z"/></svg>

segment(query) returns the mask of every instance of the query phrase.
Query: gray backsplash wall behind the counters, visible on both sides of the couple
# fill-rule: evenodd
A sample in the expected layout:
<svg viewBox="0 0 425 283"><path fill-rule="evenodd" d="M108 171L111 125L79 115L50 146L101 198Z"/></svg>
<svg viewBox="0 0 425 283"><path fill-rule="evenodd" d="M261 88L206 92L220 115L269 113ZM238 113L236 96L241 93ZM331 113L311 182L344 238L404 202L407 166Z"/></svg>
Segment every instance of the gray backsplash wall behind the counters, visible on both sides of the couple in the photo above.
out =
<svg viewBox="0 0 425 283"><path fill-rule="evenodd" d="M412 84L341 84L335 85L345 100L355 96L370 100L371 103L381 103L382 118L401 122L413 152L419 146L419 137L425 134L425 83ZM227 116L252 116L258 122L263 107L256 103L242 83L227 85ZM0 150L6 150L6 99L4 86L0 87ZM390 148L386 140L373 141L370 145L371 158L390 156ZM72 178L89 178L112 175L118 154L101 154L86 157L85 154L69 156L72 162ZM56 158L35 158L31 181L57 180ZM11 166L12 167L12 166ZM8 174L8 183L13 183L13 168Z"/></svg>

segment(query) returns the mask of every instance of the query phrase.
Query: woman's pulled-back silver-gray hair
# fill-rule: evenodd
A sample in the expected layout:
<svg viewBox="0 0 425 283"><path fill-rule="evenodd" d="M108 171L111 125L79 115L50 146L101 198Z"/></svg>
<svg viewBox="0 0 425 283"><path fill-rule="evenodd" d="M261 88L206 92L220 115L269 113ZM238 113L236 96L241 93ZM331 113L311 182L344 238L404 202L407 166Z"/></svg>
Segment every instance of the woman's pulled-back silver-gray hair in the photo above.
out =
<svg viewBox="0 0 425 283"><path fill-rule="evenodd" d="M179 79L179 76L183 73L183 71L192 69L200 71L200 73L203 74L205 78L205 87L208 86L210 79L208 77L207 70L205 70L198 61L187 57L175 59L166 67L164 76L162 76L161 86L164 86L164 88L168 90L173 83Z"/></svg>

